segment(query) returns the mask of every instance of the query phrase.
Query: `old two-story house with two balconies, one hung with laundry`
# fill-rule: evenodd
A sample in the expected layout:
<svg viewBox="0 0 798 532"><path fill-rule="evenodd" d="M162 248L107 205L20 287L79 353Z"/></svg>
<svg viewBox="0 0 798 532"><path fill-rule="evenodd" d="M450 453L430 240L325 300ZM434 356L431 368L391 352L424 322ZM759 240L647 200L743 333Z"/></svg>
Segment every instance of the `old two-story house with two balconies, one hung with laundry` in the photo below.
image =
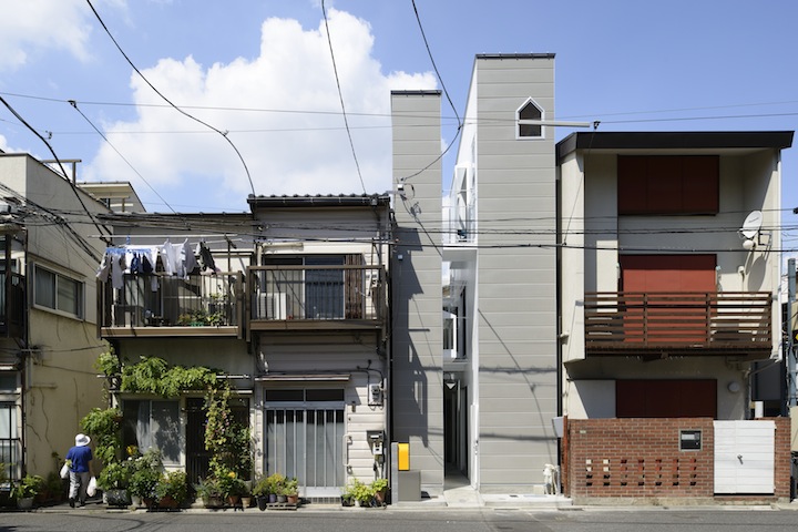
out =
<svg viewBox="0 0 798 532"><path fill-rule="evenodd" d="M231 383L257 474L337 498L387 474L387 195L249 196L250 213L114 215L101 336L127 361L203 366ZM149 270L142 269L144 263ZM135 265L135 267L131 267ZM125 443L207 474L202 392L120 391Z"/></svg>

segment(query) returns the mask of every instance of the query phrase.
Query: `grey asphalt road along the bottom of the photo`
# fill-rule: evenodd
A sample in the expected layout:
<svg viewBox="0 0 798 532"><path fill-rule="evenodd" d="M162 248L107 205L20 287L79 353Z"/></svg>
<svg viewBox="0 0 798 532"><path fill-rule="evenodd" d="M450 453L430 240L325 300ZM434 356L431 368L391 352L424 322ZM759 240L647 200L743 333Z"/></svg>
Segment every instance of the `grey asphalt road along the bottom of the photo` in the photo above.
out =
<svg viewBox="0 0 798 532"><path fill-rule="evenodd" d="M732 508L724 510L509 510L346 509L297 512L180 512L108 513L69 512L0 513L0 531L115 532L231 530L285 532L757 532L795 531L798 513L789 510Z"/></svg>

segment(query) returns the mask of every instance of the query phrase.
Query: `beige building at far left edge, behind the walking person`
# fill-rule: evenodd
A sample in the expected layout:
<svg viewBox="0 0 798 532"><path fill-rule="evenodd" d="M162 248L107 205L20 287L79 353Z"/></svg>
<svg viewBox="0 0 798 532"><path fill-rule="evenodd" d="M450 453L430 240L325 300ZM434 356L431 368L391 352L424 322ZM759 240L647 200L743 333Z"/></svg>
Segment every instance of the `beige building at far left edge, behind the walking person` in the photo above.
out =
<svg viewBox="0 0 798 532"><path fill-rule="evenodd" d="M12 481L57 472L53 453L104 405L93 301L108 207L62 170L0 153L0 462Z"/></svg>

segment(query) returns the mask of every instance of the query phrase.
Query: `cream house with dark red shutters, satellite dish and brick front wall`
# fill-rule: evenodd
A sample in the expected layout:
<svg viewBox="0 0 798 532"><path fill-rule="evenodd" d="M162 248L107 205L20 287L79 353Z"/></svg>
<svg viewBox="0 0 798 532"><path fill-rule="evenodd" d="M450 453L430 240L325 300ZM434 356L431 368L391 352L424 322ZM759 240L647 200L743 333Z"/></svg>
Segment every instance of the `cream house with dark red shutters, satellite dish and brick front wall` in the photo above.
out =
<svg viewBox="0 0 798 532"><path fill-rule="evenodd" d="M583 498L789 497L780 356L792 132L591 132L556 146L564 481Z"/></svg>

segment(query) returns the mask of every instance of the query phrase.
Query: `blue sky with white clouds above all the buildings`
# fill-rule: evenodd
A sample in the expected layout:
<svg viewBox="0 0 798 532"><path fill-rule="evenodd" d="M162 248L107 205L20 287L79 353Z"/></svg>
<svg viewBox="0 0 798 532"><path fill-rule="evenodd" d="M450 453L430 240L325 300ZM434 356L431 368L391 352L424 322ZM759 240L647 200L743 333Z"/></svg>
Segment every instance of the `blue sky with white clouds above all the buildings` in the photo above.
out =
<svg viewBox="0 0 798 532"><path fill-rule="evenodd" d="M147 209L239 212L246 195L390 188L389 92L440 89L411 0L25 0L0 18L0 95L81 180L131 181ZM798 129L794 0L416 0L462 114L477 53L556 54L555 114L598 131ZM68 103L75 101L78 110ZM82 113L82 114L81 114ZM442 143L454 135L443 99ZM108 141L99 135L99 129ZM574 130L560 129L557 137ZM0 106L0 149L49 158ZM798 149L784 154L796 227ZM447 158L444 182L451 157ZM362 180L361 180L362 177ZM252 180L252 185L249 183ZM798 247L798 229L785 235Z"/></svg>

